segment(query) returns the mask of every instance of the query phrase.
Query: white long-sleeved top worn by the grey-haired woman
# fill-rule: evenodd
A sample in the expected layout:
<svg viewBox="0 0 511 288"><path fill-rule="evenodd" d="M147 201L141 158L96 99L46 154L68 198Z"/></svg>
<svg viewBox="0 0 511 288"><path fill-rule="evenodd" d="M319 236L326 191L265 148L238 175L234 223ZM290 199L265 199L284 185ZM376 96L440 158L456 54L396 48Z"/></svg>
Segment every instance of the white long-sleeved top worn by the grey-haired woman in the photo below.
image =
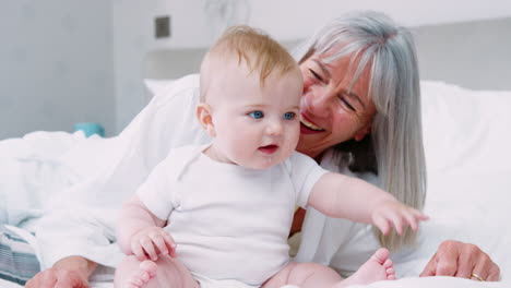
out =
<svg viewBox="0 0 511 288"><path fill-rule="evenodd" d="M115 242L115 224L122 201L133 195L170 148L210 142L195 120L198 103L199 75L185 76L155 95L118 136L105 141L105 157L99 165L103 168L52 201L51 213L35 227L41 268L70 255L109 267L119 263L123 254ZM321 166L338 170L331 154ZM377 248L369 226L309 211L296 259L328 264L346 275L356 271ZM99 273L102 269L97 269L96 274Z"/></svg>

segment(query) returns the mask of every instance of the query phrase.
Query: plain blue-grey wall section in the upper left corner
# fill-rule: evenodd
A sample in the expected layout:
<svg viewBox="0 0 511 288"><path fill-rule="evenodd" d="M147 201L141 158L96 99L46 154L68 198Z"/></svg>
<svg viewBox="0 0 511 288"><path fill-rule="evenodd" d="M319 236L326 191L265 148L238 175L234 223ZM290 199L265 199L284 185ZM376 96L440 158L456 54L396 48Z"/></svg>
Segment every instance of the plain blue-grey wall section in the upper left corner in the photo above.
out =
<svg viewBox="0 0 511 288"><path fill-rule="evenodd" d="M115 131L111 2L0 3L0 139L72 131L80 121Z"/></svg>

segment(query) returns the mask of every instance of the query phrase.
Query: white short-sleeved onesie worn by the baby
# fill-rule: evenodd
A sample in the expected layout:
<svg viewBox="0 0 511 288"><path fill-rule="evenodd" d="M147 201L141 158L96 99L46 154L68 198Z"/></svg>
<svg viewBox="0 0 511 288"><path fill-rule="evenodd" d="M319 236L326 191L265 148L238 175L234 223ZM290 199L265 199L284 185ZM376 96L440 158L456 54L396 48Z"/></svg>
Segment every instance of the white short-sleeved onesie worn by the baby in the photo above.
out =
<svg viewBox="0 0 511 288"><path fill-rule="evenodd" d="M270 169L247 169L212 160L202 153L207 146L170 151L136 193L168 219L192 275L259 286L288 263L295 205L307 205L328 171L296 152Z"/></svg>

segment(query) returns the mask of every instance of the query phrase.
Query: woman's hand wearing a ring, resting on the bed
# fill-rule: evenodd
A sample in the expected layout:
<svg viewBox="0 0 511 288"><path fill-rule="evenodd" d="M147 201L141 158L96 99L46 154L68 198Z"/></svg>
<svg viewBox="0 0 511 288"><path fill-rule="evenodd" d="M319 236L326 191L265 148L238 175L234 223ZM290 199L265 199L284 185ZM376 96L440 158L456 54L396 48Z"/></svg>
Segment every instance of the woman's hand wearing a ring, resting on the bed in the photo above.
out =
<svg viewBox="0 0 511 288"><path fill-rule="evenodd" d="M447 240L440 244L437 253L420 274L420 277L425 276L453 276L473 280L498 281L500 268L478 247Z"/></svg>

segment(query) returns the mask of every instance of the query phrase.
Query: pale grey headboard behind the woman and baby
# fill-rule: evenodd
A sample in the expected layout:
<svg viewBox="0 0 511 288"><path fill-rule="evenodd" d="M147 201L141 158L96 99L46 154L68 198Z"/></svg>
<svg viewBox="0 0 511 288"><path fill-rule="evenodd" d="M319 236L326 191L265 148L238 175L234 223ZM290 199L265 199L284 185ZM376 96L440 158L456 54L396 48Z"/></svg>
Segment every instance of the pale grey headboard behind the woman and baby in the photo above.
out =
<svg viewBox="0 0 511 288"><path fill-rule="evenodd" d="M511 89L511 17L411 28L420 79L473 89ZM299 40L286 41L289 48ZM197 73L206 48L150 51L145 79L177 79Z"/></svg>

